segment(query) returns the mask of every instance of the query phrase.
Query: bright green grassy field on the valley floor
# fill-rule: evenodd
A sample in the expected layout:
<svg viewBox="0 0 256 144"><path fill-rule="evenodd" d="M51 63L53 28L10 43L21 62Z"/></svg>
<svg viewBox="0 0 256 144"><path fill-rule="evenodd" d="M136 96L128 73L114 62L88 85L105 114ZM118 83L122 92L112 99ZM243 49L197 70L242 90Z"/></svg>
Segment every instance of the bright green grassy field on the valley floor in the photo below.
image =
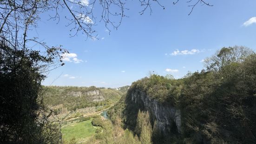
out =
<svg viewBox="0 0 256 144"><path fill-rule="evenodd" d="M72 138L85 139L92 136L96 128L92 126L92 119L79 123L69 124L63 127L61 133L64 140L69 141Z"/></svg>

